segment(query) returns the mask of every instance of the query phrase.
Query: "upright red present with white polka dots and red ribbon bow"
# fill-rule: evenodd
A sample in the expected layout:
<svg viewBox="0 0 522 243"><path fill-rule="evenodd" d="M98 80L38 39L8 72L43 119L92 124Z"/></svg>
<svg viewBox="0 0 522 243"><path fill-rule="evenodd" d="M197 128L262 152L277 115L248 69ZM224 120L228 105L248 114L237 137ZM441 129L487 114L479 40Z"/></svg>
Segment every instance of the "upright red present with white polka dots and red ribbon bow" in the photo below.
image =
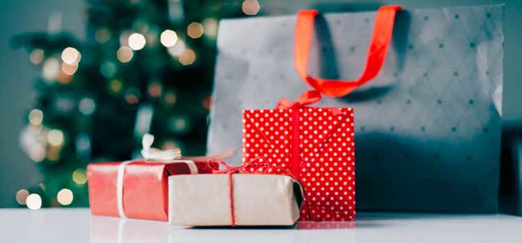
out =
<svg viewBox="0 0 522 243"><path fill-rule="evenodd" d="M307 91L297 102L281 100L277 109L244 111L243 160L266 159L298 178L308 201L300 220L354 220L354 111L306 107L320 98Z"/></svg>

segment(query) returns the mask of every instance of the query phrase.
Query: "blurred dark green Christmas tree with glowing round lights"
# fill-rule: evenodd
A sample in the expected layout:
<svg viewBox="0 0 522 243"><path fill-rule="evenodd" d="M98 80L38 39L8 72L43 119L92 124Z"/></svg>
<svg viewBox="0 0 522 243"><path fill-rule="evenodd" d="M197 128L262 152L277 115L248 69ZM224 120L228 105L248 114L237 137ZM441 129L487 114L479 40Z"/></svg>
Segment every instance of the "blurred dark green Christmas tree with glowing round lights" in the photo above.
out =
<svg viewBox="0 0 522 243"><path fill-rule="evenodd" d="M42 72L20 144L43 180L18 191L19 205L87 206L86 165L139 157L145 133L202 155L218 19L259 10L255 0L89 0L86 41L15 36Z"/></svg>

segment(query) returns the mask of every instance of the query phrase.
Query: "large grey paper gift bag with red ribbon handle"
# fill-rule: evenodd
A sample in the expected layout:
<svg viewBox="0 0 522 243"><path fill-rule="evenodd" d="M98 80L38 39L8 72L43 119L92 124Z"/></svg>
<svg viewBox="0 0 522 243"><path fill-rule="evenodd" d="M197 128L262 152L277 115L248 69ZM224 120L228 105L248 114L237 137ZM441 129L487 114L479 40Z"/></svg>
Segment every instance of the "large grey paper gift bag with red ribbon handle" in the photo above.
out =
<svg viewBox="0 0 522 243"><path fill-rule="evenodd" d="M357 210L496 212L504 6L306 16L220 22L208 152L311 87L354 108Z"/></svg>

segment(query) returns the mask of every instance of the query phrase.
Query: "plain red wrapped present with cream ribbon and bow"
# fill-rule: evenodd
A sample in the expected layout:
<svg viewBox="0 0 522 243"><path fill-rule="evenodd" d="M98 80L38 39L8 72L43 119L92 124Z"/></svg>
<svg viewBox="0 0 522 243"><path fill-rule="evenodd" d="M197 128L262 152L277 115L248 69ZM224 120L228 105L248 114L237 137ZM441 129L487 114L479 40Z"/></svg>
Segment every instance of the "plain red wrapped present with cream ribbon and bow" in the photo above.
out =
<svg viewBox="0 0 522 243"><path fill-rule="evenodd" d="M168 176L212 173L218 168L216 163L208 163L206 157L176 160L181 158L179 150L150 148L152 140L149 134L143 138L142 155L148 160L87 166L93 214L168 221Z"/></svg>

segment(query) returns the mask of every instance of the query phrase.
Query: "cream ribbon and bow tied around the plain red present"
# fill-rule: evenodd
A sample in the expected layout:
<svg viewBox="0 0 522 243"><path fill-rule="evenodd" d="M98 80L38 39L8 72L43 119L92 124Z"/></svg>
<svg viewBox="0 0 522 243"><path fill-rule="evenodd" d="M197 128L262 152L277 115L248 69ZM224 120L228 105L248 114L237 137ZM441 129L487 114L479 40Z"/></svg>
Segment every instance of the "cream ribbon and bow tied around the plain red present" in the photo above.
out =
<svg viewBox="0 0 522 243"><path fill-rule="evenodd" d="M232 155L233 150L228 150L219 155L212 156L204 156L204 157L183 157L181 155L181 150L179 148L171 149L171 150L160 150L158 148L152 148L152 143L154 142L154 136L152 134L145 134L141 139L141 143L143 145L143 149L141 150L141 155L145 159L143 162L154 163L154 162L180 162L187 164L189 167L189 171L191 174L197 174L198 166L194 163L194 160L205 161L207 159L223 159ZM118 214L120 217L127 218L125 216L125 210L123 208L123 175L125 175L125 166L127 164L134 162L135 160L127 160L122 162L118 166L118 175L116 177L116 198L118 201Z"/></svg>

